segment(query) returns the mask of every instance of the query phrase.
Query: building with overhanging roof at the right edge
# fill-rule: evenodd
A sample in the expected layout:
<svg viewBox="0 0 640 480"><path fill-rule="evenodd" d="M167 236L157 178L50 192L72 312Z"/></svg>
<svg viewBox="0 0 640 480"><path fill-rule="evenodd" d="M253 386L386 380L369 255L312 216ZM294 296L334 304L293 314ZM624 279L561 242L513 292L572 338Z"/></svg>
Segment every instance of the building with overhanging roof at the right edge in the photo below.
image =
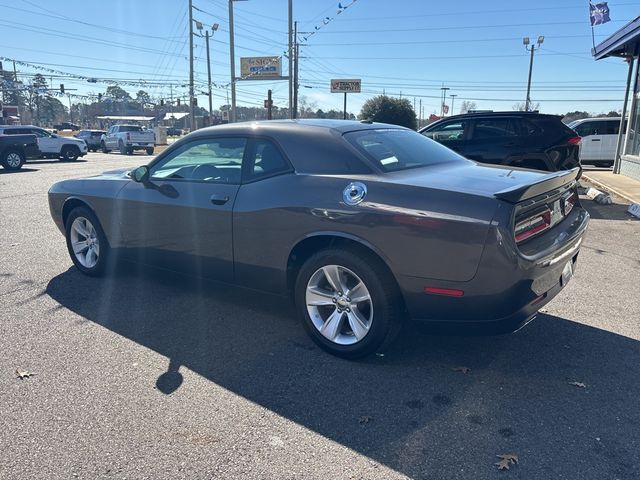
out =
<svg viewBox="0 0 640 480"><path fill-rule="evenodd" d="M613 171L640 180L640 17L595 46L592 53L596 60L618 57L629 64L622 108L622 118L629 122L626 131L620 128Z"/></svg>

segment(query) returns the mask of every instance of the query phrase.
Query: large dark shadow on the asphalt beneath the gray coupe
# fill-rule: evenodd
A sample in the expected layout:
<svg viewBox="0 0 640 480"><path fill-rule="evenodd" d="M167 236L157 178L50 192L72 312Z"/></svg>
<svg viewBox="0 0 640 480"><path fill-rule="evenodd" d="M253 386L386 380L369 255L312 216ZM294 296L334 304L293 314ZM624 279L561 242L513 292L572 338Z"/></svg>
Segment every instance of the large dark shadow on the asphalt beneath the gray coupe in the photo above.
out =
<svg viewBox="0 0 640 480"><path fill-rule="evenodd" d="M349 362L319 350L279 297L137 267L72 268L46 292L168 359L140 388L169 395L186 367L412 478L499 478L505 453L519 456L514 478L640 478L640 342L612 332L550 315L493 337L410 325L383 355Z"/></svg>

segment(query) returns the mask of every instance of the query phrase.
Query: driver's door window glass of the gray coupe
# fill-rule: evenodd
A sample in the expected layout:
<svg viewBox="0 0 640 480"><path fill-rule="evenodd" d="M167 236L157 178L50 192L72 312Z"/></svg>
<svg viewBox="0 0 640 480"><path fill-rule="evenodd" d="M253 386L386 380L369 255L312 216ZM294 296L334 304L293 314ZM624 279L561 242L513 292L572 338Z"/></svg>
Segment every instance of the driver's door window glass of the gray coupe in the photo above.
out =
<svg viewBox="0 0 640 480"><path fill-rule="evenodd" d="M194 141L153 165L151 178L239 184L246 145L238 137Z"/></svg>

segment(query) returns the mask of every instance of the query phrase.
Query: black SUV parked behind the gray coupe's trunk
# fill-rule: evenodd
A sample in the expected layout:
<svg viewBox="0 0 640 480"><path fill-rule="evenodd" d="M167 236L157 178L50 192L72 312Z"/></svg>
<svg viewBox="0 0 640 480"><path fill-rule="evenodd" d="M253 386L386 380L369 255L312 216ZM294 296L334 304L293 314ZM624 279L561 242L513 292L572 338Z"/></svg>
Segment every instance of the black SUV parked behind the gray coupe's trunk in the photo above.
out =
<svg viewBox="0 0 640 480"><path fill-rule="evenodd" d="M549 172L580 166L580 137L557 115L465 113L438 120L419 132L482 163Z"/></svg>

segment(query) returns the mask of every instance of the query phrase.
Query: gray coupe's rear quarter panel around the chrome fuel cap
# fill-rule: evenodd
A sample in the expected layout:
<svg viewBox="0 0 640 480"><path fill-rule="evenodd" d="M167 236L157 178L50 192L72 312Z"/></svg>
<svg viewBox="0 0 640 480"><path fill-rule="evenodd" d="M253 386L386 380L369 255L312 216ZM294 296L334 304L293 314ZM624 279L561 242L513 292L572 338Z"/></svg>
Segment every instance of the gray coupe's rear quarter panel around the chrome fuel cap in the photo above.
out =
<svg viewBox="0 0 640 480"><path fill-rule="evenodd" d="M349 206L342 192L367 185ZM473 278L497 201L459 192L378 181L375 176L289 174L243 185L234 207L234 258L240 283L282 291L289 254L319 234L352 238L397 276Z"/></svg>

